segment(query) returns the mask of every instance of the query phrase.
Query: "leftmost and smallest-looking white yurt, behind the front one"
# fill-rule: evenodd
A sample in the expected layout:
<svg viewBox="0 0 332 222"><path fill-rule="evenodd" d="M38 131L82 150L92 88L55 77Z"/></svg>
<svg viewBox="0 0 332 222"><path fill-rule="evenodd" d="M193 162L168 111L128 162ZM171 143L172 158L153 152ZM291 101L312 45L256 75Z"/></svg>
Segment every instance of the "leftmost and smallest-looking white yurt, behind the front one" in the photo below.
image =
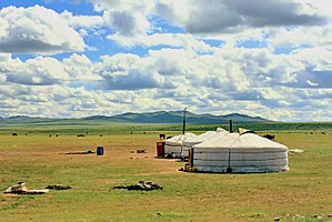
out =
<svg viewBox="0 0 332 222"><path fill-rule="evenodd" d="M172 158L181 158L183 142L197 137L191 132L184 134L174 135L164 141L164 157L171 155Z"/></svg>

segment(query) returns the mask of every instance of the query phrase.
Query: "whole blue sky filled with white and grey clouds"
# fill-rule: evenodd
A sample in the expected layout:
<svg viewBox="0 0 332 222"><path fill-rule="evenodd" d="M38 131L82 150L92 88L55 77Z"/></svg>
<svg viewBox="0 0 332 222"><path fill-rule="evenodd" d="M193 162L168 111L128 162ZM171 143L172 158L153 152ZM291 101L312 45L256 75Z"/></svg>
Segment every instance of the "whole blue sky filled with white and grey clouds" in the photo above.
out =
<svg viewBox="0 0 332 222"><path fill-rule="evenodd" d="M329 0L2 0L0 117L332 121Z"/></svg>

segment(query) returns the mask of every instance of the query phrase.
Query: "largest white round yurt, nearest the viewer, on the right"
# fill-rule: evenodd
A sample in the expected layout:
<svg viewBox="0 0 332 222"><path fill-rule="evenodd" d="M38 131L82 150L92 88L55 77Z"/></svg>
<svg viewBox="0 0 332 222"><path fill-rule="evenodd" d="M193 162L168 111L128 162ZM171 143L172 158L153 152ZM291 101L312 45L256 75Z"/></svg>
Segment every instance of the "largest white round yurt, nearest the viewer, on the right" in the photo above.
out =
<svg viewBox="0 0 332 222"><path fill-rule="evenodd" d="M199 172L278 172L289 170L288 148L258 134L229 133L190 150L190 167Z"/></svg>

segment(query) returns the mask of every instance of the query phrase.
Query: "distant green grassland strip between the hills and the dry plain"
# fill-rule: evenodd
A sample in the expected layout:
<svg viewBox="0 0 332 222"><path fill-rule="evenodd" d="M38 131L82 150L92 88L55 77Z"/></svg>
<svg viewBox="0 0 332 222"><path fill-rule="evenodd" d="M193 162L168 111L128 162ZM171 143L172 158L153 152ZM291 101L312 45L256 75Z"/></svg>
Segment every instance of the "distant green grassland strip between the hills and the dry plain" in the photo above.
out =
<svg viewBox="0 0 332 222"><path fill-rule="evenodd" d="M229 130L229 124L187 124L187 131L204 132L217 128ZM233 129L245 128L253 131L306 131L322 132L332 130L332 122L310 122L310 123L283 123L283 122L258 122L237 123ZM95 120L60 120L50 122L23 122L23 123L1 123L0 134L125 134L125 133L155 133L155 132L178 132L182 131L182 124L143 124L143 123L112 123Z"/></svg>

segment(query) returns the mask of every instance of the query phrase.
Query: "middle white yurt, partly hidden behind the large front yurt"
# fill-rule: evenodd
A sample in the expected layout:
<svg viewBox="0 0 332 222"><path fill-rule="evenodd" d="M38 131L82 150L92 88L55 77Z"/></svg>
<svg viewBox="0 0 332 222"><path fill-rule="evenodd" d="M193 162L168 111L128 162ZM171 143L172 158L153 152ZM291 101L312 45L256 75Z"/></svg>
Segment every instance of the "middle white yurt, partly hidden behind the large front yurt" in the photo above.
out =
<svg viewBox="0 0 332 222"><path fill-rule="evenodd" d="M182 158L188 158L188 155L189 155L188 151L193 145L202 143L202 142L208 141L208 140L212 140L213 138L220 138L221 139L221 138L223 138L229 132L225 131L224 129L217 128L215 131L208 131L208 132L204 132L204 133L202 133L200 135L197 135L197 137L194 137L192 139L185 140L183 142L183 149L182 149L181 157Z"/></svg>

